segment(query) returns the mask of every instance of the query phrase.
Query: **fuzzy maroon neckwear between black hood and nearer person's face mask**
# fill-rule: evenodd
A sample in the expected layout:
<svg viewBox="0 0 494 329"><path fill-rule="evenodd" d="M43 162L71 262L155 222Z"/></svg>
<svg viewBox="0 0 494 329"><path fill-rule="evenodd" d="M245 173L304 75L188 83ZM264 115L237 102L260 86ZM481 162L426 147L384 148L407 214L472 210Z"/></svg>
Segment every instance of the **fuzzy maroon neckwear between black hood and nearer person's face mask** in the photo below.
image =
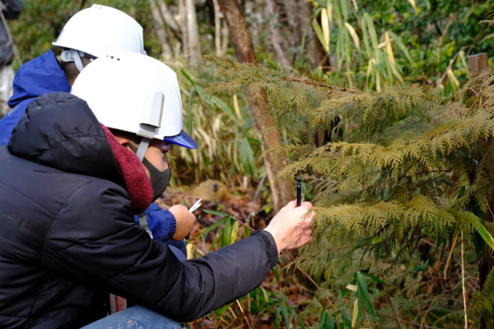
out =
<svg viewBox="0 0 494 329"><path fill-rule="evenodd" d="M118 143L117 138L107 127L99 123L106 134L106 139L113 150L113 156L117 160L120 171L124 176L128 198L136 214L144 212L151 204L153 191L151 182L144 171L143 164L139 158L123 145Z"/></svg>

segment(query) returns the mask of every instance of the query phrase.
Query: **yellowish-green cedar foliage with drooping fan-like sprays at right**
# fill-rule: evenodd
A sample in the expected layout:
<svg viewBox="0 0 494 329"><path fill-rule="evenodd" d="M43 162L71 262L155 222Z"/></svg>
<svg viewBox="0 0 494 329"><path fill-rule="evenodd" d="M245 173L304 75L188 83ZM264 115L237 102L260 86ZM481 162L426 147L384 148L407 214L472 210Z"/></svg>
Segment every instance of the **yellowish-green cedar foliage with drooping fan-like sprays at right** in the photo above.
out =
<svg viewBox="0 0 494 329"><path fill-rule="evenodd" d="M473 252L474 244L479 244L475 227L484 228L480 224L482 218L469 210L478 206L482 212L491 211L491 72L471 77L460 91L461 101L446 102L425 87L394 86L377 93L363 93L339 87L338 82L305 69L288 76L272 64L259 66L224 58L209 59L226 80L211 85L209 92L234 93L249 86L260 95L265 90L279 126L292 140L299 136L296 143L269 151L290 159L281 177L303 173L307 184L314 186L316 239L296 263L309 269L321 282L316 299L307 308L312 315L328 310L324 319L320 313L320 321L329 316L345 318L343 313L338 315L338 306L329 302L328 296L335 295L336 282L349 273L364 270L370 277L387 273L388 284L396 287L382 291L388 297L395 295L403 309L410 306L410 300L407 302L403 297L410 291L400 293L399 286L406 286L407 282L400 281L403 276L397 265L403 262L399 259L408 259L410 263L416 260L417 247L428 239L435 242L442 253L440 258L445 260L449 248L460 243L452 239L459 232L464 234L467 252ZM332 141L317 147L314 136L320 128L330 132ZM491 229L488 223L486 226ZM475 260L471 263L475 264ZM450 269L456 275L458 265L451 267L456 267ZM493 275L486 281L484 291L468 300L470 321L492 321ZM458 276L455 280L454 289L421 297L425 304L447 308L447 312L433 320L427 318L436 326L451 328L447 324L462 323L461 285ZM473 293L469 291L469 295ZM388 300L383 295L376 297ZM353 319L353 325L360 322L386 327L385 317L363 318L362 307L358 305L360 314ZM382 310L388 317L393 314L391 308ZM367 311L372 313L369 308ZM403 310L403 316L409 318L413 313ZM344 320L342 323L348 326L349 319Z"/></svg>

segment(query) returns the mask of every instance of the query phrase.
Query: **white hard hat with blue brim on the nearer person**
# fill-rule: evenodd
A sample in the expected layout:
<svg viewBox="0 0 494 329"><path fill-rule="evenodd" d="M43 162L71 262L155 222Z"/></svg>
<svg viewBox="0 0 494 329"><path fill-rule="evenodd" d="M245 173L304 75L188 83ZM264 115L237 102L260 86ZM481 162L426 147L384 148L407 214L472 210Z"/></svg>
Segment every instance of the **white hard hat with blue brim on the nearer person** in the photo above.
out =
<svg viewBox="0 0 494 329"><path fill-rule="evenodd" d="M154 58L129 52L97 58L75 79L71 93L84 99L106 127L197 147L183 132L176 73Z"/></svg>

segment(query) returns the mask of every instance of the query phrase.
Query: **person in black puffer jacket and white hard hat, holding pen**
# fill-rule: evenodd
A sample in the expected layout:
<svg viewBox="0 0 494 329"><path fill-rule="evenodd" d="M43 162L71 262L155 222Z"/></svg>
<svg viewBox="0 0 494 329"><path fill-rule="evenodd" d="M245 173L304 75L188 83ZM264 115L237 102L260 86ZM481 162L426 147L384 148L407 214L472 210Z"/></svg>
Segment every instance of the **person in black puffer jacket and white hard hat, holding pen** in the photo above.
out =
<svg viewBox="0 0 494 329"><path fill-rule="evenodd" d="M170 174L168 144L196 146L181 113L175 73L137 53L97 58L72 94L30 103L0 147L3 328L181 328L175 321L245 295L281 251L311 240L309 202L290 202L266 229L184 262L134 225L163 188L153 173ZM95 321L107 292L139 306Z"/></svg>

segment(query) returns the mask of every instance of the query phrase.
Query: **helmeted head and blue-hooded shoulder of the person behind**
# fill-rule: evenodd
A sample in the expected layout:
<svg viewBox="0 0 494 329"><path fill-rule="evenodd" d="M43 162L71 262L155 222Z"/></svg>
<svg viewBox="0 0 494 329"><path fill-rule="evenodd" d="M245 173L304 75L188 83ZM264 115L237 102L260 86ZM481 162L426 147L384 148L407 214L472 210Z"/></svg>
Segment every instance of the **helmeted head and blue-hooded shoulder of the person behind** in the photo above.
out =
<svg viewBox="0 0 494 329"><path fill-rule="evenodd" d="M69 92L73 81L91 60L108 51L145 53L143 28L125 12L105 5L92 5L75 13L52 45L62 50L61 65L53 51L23 64L14 78L12 108L0 120L0 145L8 142L27 104L45 93Z"/></svg>

